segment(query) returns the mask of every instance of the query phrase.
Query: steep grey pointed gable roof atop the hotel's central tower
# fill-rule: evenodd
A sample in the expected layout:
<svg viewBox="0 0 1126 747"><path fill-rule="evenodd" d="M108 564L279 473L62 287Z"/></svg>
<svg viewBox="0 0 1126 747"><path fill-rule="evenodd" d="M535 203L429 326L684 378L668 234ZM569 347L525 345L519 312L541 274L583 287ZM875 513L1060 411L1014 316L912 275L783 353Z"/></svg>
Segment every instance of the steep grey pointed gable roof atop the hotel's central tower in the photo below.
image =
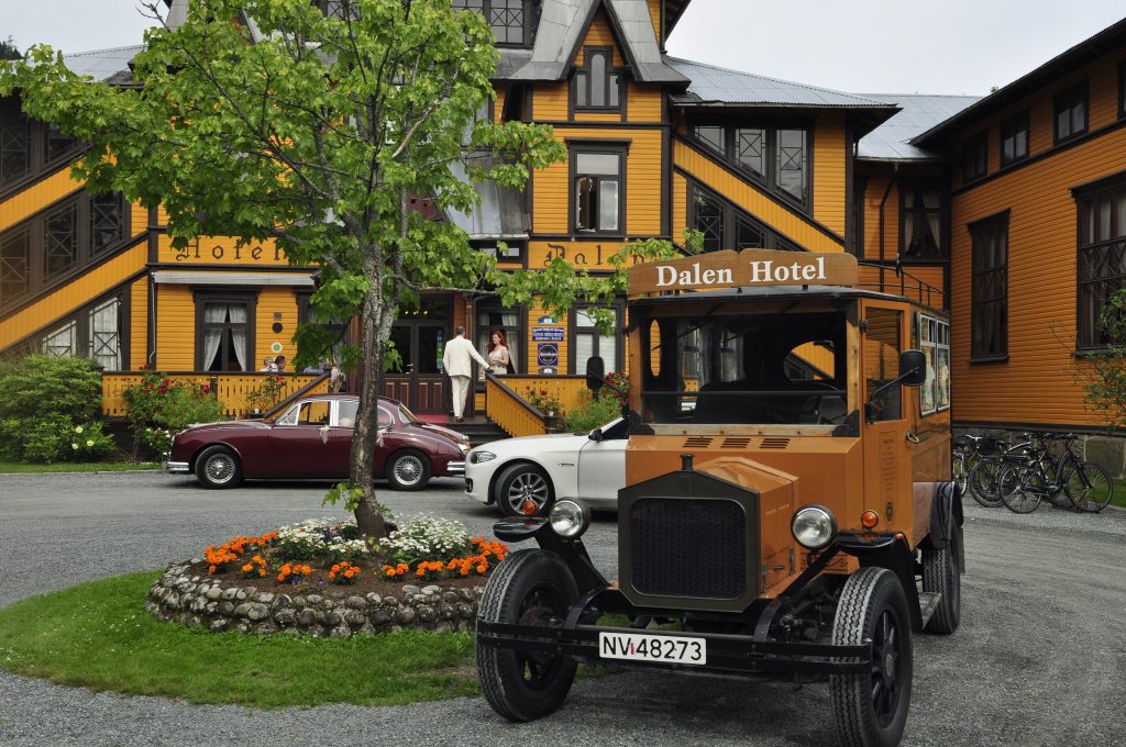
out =
<svg viewBox="0 0 1126 747"><path fill-rule="evenodd" d="M530 58L508 75L498 74L508 80L562 80L595 15L604 8L637 80L688 82L665 64L645 0L544 0ZM502 62L501 69L506 66L511 62Z"/></svg>

